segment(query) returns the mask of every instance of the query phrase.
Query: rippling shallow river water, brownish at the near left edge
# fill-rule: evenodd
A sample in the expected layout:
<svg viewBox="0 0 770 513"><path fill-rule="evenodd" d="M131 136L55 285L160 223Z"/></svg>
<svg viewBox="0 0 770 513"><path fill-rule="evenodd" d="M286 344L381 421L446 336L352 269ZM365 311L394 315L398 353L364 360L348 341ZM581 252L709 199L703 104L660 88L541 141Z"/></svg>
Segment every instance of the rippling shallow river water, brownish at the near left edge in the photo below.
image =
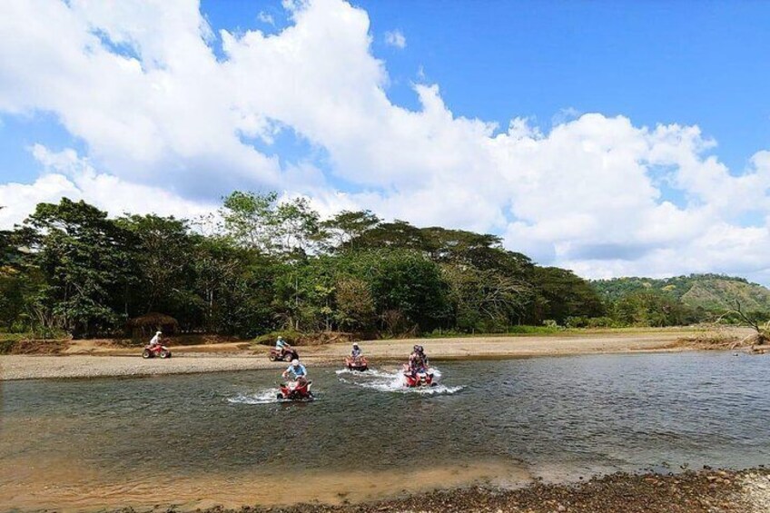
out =
<svg viewBox="0 0 770 513"><path fill-rule="evenodd" d="M770 463L770 360L727 352L5 381L0 509L361 500L486 481Z"/></svg>

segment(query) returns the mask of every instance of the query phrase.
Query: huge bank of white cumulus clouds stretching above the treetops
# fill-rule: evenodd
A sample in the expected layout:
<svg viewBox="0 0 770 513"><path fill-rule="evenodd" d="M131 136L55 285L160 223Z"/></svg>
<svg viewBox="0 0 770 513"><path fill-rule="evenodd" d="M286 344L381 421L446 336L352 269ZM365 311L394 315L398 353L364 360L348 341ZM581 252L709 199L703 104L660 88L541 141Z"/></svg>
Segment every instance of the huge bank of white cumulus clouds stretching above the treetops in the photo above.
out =
<svg viewBox="0 0 770 513"><path fill-rule="evenodd" d="M550 130L499 126L453 113L439 84L415 84L409 110L386 94L366 12L284 5L290 25L266 35L214 33L192 0L0 3L0 113L54 113L87 148L35 146L42 174L0 184L0 226L63 195L184 215L234 188L274 189L324 213L496 232L585 276L770 277L770 152L730 170L697 126L571 109ZM323 165L271 151L286 136Z"/></svg>

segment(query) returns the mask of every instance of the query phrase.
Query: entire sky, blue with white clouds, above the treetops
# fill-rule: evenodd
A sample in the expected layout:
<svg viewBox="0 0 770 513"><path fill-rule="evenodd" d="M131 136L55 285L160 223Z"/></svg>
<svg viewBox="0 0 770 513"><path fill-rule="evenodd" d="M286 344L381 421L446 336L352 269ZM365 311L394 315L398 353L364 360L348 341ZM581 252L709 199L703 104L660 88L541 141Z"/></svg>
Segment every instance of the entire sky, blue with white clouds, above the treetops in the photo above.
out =
<svg viewBox="0 0 770 513"><path fill-rule="evenodd" d="M0 3L0 229L233 190L770 284L770 4Z"/></svg>

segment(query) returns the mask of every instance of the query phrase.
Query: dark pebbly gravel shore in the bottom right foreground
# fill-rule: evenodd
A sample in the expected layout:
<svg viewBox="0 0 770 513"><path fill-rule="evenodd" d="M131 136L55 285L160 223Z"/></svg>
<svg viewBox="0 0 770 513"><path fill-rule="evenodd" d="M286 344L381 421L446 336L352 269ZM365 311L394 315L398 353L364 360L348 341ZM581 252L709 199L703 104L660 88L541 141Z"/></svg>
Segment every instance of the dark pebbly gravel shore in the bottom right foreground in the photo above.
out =
<svg viewBox="0 0 770 513"><path fill-rule="evenodd" d="M208 508L205 513L766 513L770 470L703 470L661 476L613 474L578 484L514 490L464 488L366 504ZM133 513L122 509L121 513Z"/></svg>

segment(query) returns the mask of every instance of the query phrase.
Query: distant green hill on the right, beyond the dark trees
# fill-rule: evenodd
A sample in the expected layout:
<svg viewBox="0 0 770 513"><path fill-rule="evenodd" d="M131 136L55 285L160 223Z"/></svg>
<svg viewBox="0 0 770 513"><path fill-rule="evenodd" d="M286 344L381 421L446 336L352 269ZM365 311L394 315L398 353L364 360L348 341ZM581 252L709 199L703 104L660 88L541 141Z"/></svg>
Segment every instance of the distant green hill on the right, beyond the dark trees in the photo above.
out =
<svg viewBox="0 0 770 513"><path fill-rule="evenodd" d="M743 278L721 274L690 274L656 280L652 278L615 278L594 280L591 285L605 301L617 301L638 291L657 291L692 308L721 311L738 300L744 311L770 311L770 290Z"/></svg>

